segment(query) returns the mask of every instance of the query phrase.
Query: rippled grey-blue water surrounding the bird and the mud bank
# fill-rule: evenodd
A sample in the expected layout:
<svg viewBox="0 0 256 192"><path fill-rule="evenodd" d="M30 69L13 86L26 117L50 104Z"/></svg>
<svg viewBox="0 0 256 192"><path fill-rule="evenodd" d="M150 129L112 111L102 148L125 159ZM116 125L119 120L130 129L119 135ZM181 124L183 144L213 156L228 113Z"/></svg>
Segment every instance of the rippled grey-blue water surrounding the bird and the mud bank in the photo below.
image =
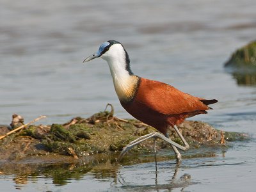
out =
<svg viewBox="0 0 256 192"><path fill-rule="evenodd" d="M131 118L118 102L106 61L82 63L102 42L118 40L129 53L134 74L219 100L209 115L194 120L246 132L253 140L235 143L224 155L217 151L215 157L184 159L179 168L173 160L159 162L157 172L154 162L130 164L107 169L101 178L92 170L67 176L65 184L54 182L38 165L26 172L24 184L15 181L22 172L1 173L1 190L252 191L256 88L237 84L223 63L235 49L255 40L255 8L250 0L2 0L1 124L10 124L13 113L26 122L47 115L40 123L64 123L97 113L108 102L117 116Z"/></svg>

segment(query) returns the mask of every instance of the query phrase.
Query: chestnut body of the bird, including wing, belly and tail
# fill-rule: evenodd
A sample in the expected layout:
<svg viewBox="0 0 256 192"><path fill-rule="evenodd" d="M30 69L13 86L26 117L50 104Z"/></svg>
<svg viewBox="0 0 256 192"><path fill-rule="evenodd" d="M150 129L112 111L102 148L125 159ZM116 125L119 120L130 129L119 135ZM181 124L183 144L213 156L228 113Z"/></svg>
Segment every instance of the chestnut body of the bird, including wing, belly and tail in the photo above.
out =
<svg viewBox="0 0 256 192"><path fill-rule="evenodd" d="M185 118L207 113L207 104L217 100L205 100L183 93L159 81L139 77L131 100L120 103L134 118L151 125L166 134L168 126L180 124Z"/></svg>

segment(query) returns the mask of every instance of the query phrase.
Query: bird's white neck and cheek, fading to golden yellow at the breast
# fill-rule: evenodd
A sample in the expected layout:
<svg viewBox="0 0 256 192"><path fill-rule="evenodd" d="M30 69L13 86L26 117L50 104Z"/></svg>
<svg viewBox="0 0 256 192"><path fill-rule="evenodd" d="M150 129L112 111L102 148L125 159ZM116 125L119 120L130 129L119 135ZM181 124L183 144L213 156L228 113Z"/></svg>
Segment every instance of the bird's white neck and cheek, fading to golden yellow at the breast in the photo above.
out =
<svg viewBox="0 0 256 192"><path fill-rule="evenodd" d="M135 92L138 77L130 75L126 69L124 48L120 44L112 45L102 58L108 61L118 98L129 100Z"/></svg>

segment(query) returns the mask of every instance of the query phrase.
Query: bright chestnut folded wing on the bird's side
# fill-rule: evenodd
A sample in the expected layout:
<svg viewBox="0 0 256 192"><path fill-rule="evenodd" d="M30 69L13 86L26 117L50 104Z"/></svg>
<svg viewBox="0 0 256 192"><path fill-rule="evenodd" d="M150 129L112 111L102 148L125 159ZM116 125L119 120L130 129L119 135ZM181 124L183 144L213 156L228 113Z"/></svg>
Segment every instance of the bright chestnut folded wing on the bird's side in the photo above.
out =
<svg viewBox="0 0 256 192"><path fill-rule="evenodd" d="M169 84L144 78L140 79L140 85L136 93L137 102L141 102L148 108L164 115L209 109L200 99L202 100L202 98L180 92Z"/></svg>

